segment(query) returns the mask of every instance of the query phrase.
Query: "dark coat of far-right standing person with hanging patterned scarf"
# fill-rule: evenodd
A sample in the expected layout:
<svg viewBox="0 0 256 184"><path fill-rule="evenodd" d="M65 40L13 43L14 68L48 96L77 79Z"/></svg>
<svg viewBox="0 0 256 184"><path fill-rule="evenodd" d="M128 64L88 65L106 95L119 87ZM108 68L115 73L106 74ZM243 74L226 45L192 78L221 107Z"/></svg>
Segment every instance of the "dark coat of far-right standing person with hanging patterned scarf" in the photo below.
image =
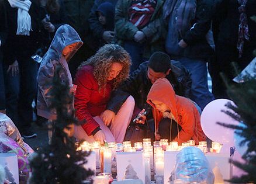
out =
<svg viewBox="0 0 256 184"><path fill-rule="evenodd" d="M256 23L251 19L251 16L256 15L256 0L248 0L245 5L250 37L248 41L244 40L241 58L238 58L237 49L240 18L238 7L237 0L218 1L213 18L213 35L215 37L217 62L221 65L226 65L230 70L232 70L231 62L237 62L239 69L243 70L255 57L253 51L256 48ZM231 72L229 75L231 75ZM233 77L233 74L231 77Z"/></svg>

